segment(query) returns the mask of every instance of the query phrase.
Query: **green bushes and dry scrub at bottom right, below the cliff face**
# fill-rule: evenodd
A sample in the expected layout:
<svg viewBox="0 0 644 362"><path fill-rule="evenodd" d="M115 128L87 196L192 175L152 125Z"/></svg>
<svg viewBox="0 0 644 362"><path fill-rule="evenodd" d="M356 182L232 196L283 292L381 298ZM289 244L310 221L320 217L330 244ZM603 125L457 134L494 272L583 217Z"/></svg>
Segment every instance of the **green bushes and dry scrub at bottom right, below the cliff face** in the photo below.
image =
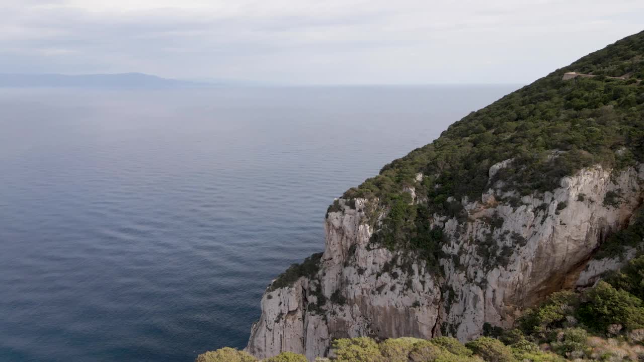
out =
<svg viewBox="0 0 644 362"><path fill-rule="evenodd" d="M644 294L643 277L644 256L639 256L622 271L583 292L551 294L540 306L524 312L519 320L520 330L513 333L547 343L568 359L620 361L627 356L641 360L644 304L639 297ZM601 338L604 336L612 338L606 341Z"/></svg>

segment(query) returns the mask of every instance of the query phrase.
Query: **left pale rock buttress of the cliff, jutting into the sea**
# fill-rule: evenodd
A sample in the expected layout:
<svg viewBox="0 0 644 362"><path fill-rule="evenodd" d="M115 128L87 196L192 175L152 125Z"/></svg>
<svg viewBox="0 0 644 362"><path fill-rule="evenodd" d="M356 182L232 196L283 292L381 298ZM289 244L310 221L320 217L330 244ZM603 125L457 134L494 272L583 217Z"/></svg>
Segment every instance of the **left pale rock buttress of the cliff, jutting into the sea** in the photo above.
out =
<svg viewBox="0 0 644 362"><path fill-rule="evenodd" d="M282 350L325 356L332 339L355 336L433 336L439 281L424 262L370 244L368 201L329 213L326 248L315 278L267 291L247 350L268 357ZM404 265L403 265L404 264Z"/></svg>

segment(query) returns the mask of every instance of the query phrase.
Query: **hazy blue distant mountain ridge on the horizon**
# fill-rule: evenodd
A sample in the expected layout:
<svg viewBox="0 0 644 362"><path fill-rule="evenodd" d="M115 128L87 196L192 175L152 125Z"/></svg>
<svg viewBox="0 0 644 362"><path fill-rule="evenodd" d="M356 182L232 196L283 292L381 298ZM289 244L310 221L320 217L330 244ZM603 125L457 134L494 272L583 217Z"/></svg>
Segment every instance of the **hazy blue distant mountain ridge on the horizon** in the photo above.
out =
<svg viewBox="0 0 644 362"><path fill-rule="evenodd" d="M216 83L180 81L144 73L81 75L0 73L0 88L171 89L206 88L216 85Z"/></svg>

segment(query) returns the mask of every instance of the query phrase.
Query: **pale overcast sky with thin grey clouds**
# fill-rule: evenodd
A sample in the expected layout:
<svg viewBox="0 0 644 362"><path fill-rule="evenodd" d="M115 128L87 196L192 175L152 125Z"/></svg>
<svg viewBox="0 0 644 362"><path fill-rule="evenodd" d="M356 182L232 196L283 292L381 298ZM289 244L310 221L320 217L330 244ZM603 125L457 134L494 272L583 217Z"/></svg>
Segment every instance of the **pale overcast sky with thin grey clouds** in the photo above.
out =
<svg viewBox="0 0 644 362"><path fill-rule="evenodd" d="M525 84L642 19L641 0L0 0L0 73Z"/></svg>

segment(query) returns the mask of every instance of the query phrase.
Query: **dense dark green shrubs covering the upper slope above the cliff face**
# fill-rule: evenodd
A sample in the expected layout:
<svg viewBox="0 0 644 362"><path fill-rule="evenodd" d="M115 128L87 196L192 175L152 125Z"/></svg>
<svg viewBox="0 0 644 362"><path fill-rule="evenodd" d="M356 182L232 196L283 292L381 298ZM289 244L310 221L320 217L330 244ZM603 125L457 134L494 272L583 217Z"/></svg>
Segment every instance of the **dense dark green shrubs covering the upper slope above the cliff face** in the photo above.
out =
<svg viewBox="0 0 644 362"><path fill-rule="evenodd" d="M591 53L470 113L431 144L394 160L378 176L346 191L343 198L377 198L375 212L388 214L374 242L390 249L419 250L435 265L442 235L429 227L431 215L463 220L461 198L480 197L490 185L488 169L493 164L512 158L492 182L503 180L506 191L528 195L558 187L562 176L581 167L625 167L643 160L644 82L634 81L644 79L643 53L644 32ZM568 71L630 79L562 81ZM417 173L425 175L420 184ZM411 204L410 195L403 191L409 186L427 202ZM605 200L609 205L618 202L618 195ZM558 211L564 207L559 205ZM339 207L334 204L329 210Z"/></svg>

